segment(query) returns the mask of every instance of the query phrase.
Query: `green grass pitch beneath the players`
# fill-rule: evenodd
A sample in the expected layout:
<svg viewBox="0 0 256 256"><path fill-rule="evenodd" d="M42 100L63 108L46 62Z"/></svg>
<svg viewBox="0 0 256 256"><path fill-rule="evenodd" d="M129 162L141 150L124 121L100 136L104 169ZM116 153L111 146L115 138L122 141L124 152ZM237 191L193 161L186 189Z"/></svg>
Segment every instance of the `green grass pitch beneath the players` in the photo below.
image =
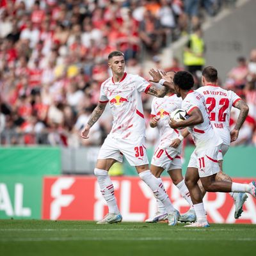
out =
<svg viewBox="0 0 256 256"><path fill-rule="evenodd" d="M253 255L256 225L0 220L0 255Z"/></svg>

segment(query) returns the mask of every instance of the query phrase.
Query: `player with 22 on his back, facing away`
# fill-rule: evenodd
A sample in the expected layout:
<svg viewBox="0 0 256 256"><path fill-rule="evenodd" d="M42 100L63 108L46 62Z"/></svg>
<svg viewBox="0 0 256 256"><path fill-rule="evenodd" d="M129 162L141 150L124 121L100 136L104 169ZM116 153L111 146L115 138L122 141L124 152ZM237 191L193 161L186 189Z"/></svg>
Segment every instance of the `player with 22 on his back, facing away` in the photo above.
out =
<svg viewBox="0 0 256 256"><path fill-rule="evenodd" d="M246 116L248 115L249 108L247 104L241 100L241 98L234 92L225 90L218 86L218 71L214 67L205 67L202 72L202 84L204 86L198 88L197 92L200 92L204 98L209 112L212 127L216 134L220 136L223 143L221 144L221 150L218 153L218 162L220 165L220 172L217 173L217 180L232 179L223 173L223 156L227 153L230 146L230 135L232 136L231 142L237 139L239 130L244 123ZM230 111L232 106L240 109L239 117L237 118L236 127L230 131ZM248 197L246 193L230 193L236 205L234 217L238 219L243 212L243 204Z"/></svg>

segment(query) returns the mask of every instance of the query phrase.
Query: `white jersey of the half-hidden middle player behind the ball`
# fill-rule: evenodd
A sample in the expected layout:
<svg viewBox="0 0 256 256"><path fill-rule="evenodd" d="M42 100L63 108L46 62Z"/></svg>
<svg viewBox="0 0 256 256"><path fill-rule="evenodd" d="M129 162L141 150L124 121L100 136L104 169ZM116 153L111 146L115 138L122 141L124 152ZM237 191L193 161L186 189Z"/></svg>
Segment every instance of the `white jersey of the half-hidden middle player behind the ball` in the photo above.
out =
<svg viewBox="0 0 256 256"><path fill-rule="evenodd" d="M163 98L154 97L152 100L151 116L158 116L160 118L157 123L160 143L170 144L170 141L178 138L179 131L173 130L168 124L168 121L172 111L181 108L181 102L182 99L174 93Z"/></svg>

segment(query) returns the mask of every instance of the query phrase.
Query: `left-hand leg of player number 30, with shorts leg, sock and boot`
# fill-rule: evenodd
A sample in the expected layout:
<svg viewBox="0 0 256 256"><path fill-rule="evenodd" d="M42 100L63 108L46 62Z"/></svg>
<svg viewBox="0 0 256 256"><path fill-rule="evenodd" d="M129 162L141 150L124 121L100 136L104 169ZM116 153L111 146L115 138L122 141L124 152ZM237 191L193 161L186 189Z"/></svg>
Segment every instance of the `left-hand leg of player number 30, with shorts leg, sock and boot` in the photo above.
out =
<svg viewBox="0 0 256 256"><path fill-rule="evenodd" d="M97 224L110 224L122 221L122 216L116 204L113 183L108 175L111 166L116 162L122 162L122 155L115 148L115 141L112 138L106 138L100 148L98 160L94 169L95 176L100 187L100 192L108 204L109 213L98 221Z"/></svg>

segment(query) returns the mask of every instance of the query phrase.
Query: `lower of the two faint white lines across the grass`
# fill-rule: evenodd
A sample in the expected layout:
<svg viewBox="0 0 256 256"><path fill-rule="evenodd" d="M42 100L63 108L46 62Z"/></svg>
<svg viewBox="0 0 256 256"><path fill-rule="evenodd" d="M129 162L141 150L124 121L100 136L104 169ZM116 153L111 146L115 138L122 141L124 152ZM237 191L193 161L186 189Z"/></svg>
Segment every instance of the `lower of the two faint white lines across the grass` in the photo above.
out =
<svg viewBox="0 0 256 256"><path fill-rule="evenodd" d="M214 237L12 237L2 238L1 242L42 242L42 241L256 241L256 237L247 238L214 238Z"/></svg>

